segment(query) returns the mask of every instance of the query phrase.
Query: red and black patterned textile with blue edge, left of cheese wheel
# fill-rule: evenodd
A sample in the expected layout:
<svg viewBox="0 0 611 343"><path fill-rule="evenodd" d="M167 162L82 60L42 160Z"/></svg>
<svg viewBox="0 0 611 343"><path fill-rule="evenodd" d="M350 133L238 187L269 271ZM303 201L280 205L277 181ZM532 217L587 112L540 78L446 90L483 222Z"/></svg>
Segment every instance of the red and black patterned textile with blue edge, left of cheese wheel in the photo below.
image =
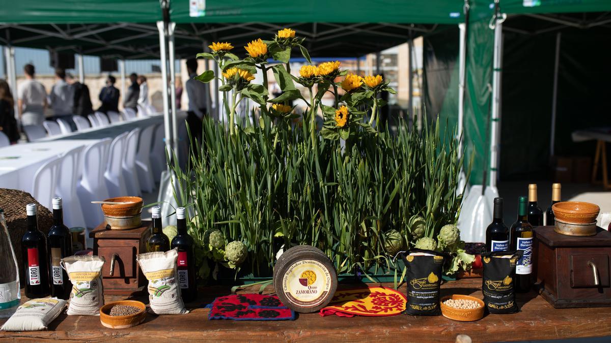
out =
<svg viewBox="0 0 611 343"><path fill-rule="evenodd" d="M214 299L206 308L210 308L211 320L295 320L295 311L282 305L276 295L227 295Z"/></svg>

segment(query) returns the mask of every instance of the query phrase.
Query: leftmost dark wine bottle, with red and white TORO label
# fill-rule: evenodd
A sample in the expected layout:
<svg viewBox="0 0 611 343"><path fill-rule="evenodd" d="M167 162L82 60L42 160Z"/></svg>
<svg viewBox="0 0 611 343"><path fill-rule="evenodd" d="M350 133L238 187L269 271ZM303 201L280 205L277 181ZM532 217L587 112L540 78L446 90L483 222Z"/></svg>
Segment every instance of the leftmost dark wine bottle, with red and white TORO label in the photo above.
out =
<svg viewBox="0 0 611 343"><path fill-rule="evenodd" d="M27 231L21 237L23 270L26 273L26 296L43 298L49 295L49 269L46 262L46 239L38 229L36 205L27 204Z"/></svg>

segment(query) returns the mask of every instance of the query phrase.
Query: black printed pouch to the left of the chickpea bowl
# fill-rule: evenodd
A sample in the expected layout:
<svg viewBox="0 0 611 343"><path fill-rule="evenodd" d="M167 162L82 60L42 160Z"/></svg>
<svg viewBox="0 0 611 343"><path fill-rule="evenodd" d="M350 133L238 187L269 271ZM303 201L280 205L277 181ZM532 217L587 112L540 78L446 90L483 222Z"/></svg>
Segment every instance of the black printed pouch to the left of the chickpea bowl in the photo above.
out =
<svg viewBox="0 0 611 343"><path fill-rule="evenodd" d="M433 250L414 249L401 254L408 282L408 303L405 314L439 316L439 287L445 255Z"/></svg>

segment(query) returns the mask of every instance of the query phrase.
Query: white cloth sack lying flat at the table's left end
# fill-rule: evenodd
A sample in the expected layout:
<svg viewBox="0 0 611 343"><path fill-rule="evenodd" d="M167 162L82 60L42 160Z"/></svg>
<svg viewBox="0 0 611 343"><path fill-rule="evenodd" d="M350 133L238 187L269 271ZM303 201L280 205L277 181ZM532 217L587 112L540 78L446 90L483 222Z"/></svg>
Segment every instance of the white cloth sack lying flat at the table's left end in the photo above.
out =
<svg viewBox="0 0 611 343"><path fill-rule="evenodd" d="M49 323L59 316L66 301L58 298L40 298L26 301L10 316L0 330L39 331L45 330Z"/></svg>

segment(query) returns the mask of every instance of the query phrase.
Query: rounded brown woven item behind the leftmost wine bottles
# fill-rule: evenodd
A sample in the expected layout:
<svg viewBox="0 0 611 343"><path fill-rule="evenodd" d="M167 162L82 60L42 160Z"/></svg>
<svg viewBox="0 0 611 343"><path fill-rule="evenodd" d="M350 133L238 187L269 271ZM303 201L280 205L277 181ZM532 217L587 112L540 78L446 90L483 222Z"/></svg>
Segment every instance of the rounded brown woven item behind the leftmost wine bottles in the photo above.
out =
<svg viewBox="0 0 611 343"><path fill-rule="evenodd" d="M27 204L36 204L38 229L46 234L51 225L53 225L53 214L51 211L39 204L30 193L16 189L0 188L0 208L4 209L4 218L7 228L9 228L10 241L13 244L13 249L15 249L21 287L25 284L21 237L27 231Z"/></svg>

